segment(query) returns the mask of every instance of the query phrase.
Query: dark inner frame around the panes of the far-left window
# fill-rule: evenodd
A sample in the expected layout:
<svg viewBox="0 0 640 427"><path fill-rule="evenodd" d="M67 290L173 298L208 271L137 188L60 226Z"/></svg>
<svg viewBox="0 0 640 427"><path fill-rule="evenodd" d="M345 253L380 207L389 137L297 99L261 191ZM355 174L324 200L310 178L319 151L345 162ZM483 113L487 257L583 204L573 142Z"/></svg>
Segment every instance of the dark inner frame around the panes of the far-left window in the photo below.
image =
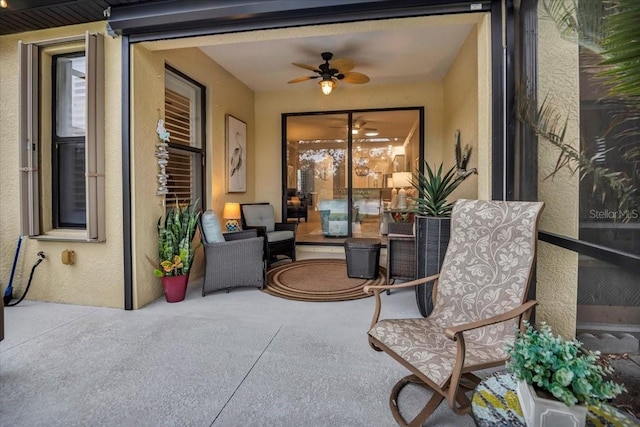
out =
<svg viewBox="0 0 640 427"><path fill-rule="evenodd" d="M85 218L82 224L60 222L60 156L57 147L58 144L82 143L82 145L86 149L87 139L85 136L58 136L58 121L56 120L58 114L58 59L80 57L86 58L86 56L87 55L85 51L77 51L53 55L51 57L51 222L54 229L87 229L86 205Z"/></svg>

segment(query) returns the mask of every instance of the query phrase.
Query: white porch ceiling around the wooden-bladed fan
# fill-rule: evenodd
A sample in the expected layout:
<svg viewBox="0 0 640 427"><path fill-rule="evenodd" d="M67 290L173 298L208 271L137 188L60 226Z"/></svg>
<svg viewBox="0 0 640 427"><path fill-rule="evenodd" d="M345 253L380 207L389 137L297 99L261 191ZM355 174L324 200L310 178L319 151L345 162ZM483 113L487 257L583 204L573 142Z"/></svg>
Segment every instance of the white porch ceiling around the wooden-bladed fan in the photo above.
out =
<svg viewBox="0 0 640 427"><path fill-rule="evenodd" d="M317 79L287 84L296 77L315 75L291 63L317 67L324 62L320 54L327 51L334 58L355 61L353 71L371 78L367 85L386 85L442 79L472 28L466 19L447 25L253 40L200 49L253 91L317 85ZM336 90L348 85L341 83Z"/></svg>

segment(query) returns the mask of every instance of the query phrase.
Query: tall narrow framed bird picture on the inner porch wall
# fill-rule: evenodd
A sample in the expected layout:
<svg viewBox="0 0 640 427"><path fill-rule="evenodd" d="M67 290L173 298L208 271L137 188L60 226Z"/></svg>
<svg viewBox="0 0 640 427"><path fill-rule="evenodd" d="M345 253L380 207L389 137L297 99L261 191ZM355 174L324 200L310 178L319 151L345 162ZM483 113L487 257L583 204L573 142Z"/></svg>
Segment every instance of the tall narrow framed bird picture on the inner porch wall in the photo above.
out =
<svg viewBox="0 0 640 427"><path fill-rule="evenodd" d="M247 191L247 124L226 115L227 193Z"/></svg>

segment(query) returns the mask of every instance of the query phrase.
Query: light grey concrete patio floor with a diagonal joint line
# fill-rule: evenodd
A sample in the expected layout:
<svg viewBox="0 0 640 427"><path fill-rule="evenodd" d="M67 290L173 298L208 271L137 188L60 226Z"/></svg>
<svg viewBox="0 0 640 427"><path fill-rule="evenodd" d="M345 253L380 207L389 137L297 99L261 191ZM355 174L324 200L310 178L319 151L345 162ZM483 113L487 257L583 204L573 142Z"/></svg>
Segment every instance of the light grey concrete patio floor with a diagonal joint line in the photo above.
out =
<svg viewBox="0 0 640 427"><path fill-rule="evenodd" d="M326 256L343 253L300 258ZM382 317L419 316L412 290L383 298ZM394 426L389 393L408 372L369 347L373 308L202 298L197 281L135 311L25 300L5 308L0 426ZM403 412L429 395L408 386ZM442 404L425 425L475 424Z"/></svg>

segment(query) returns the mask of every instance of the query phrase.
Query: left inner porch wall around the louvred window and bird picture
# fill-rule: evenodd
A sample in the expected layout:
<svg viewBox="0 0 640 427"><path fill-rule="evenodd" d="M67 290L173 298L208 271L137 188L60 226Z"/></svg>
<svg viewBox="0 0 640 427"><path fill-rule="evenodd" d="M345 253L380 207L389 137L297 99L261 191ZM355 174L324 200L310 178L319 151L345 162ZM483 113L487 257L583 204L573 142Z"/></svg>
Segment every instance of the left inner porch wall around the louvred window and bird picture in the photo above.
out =
<svg viewBox="0 0 640 427"><path fill-rule="evenodd" d="M146 256L156 257L158 218L164 211L163 197L156 196L158 165L154 153L156 124L164 117L165 63L207 88L205 189L207 206L222 218L225 202L254 200L253 169L254 97L238 79L213 62L199 49L149 51L136 45L133 52L132 78L132 188L134 194L133 232L134 307L139 308L162 295L160 280L153 276ZM247 123L247 192L225 194L225 116L231 114ZM190 281L202 276L202 249L198 249Z"/></svg>

